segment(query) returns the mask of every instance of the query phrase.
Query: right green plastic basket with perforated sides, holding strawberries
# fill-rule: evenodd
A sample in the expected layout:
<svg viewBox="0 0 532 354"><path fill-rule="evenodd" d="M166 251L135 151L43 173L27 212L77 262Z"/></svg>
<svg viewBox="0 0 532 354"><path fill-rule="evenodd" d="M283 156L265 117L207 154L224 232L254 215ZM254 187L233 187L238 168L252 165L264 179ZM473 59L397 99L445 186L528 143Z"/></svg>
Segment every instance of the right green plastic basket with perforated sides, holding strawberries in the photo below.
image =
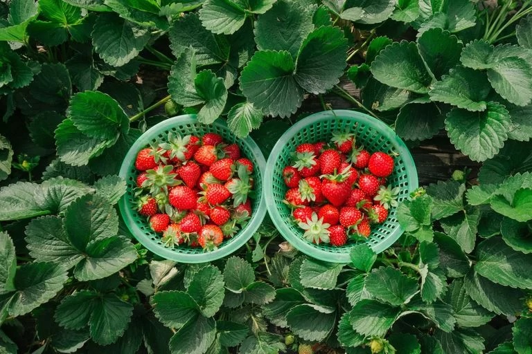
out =
<svg viewBox="0 0 532 354"><path fill-rule="evenodd" d="M328 141L332 131L355 133L357 145L371 153L384 151L398 153L395 168L388 178L393 187L400 187L398 201L408 198L410 192L418 187L418 174L414 160L402 140L386 124L364 113L355 111L324 111L296 122L278 140L269 155L265 173L265 199L269 216L284 238L295 248L321 261L348 263L349 252L354 243L342 247L328 244L316 245L303 239L301 230L291 220L290 208L283 203L287 187L282 171L290 161L290 154L302 142ZM391 209L387 221L379 227L373 227L366 243L376 253L380 253L392 245L403 230L396 218L396 209Z"/></svg>

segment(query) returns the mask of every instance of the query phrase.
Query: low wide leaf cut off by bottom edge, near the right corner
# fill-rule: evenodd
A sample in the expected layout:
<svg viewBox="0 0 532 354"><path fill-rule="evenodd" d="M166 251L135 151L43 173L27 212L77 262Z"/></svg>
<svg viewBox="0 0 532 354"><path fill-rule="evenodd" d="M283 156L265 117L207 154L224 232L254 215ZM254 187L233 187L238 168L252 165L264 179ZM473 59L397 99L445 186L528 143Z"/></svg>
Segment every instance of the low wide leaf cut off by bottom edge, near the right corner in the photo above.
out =
<svg viewBox="0 0 532 354"><path fill-rule="evenodd" d="M484 339L474 330L461 328L446 333L436 330L434 337L441 343L445 353L477 354L484 352Z"/></svg>

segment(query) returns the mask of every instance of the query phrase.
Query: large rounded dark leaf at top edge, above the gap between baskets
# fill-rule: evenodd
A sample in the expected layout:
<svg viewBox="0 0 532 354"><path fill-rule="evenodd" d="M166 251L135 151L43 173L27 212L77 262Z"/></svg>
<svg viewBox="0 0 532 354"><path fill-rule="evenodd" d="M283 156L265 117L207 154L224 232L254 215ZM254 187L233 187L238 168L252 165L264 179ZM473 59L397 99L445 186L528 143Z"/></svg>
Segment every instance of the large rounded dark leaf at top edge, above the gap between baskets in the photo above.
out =
<svg viewBox="0 0 532 354"><path fill-rule="evenodd" d="M258 50L287 51L296 58L303 40L314 29L314 8L297 1L278 0L255 22Z"/></svg>

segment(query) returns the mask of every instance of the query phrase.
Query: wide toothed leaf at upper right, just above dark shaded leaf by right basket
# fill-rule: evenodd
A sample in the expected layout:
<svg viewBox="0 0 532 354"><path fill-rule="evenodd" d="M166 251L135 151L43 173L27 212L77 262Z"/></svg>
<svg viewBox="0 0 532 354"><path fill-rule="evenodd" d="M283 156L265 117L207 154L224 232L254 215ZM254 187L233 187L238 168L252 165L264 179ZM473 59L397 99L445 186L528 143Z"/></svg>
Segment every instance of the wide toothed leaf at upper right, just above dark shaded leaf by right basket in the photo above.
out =
<svg viewBox="0 0 532 354"><path fill-rule="evenodd" d="M461 109L484 111L490 90L486 73L457 66L449 75L443 75L441 81L434 83L429 95L434 101L452 104Z"/></svg>

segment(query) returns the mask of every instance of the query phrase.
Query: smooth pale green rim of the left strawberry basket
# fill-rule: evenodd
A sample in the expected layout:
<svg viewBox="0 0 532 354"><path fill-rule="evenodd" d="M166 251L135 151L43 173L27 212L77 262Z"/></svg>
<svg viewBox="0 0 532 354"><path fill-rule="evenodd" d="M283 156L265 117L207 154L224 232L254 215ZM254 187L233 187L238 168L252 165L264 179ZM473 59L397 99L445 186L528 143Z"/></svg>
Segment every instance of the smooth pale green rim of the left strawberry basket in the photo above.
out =
<svg viewBox="0 0 532 354"><path fill-rule="evenodd" d="M134 163L134 159L138 151L147 145L148 140L151 140L152 138L154 138L154 136L157 136L159 133L161 133L161 131L171 129L176 124L202 124L205 125L205 127L218 126L222 129L229 130L229 127L227 127L226 122L224 122L223 120L217 119L212 124L203 124L197 120L197 115L195 114L177 115L175 117L163 120L163 122L155 124L153 127L145 131L137 140L135 140L135 142L127 151L127 154L125 155L122 161L118 176L127 180L127 174L130 171L132 164ZM265 174L266 169L266 160L262 151L260 151L260 148L258 147L256 142L250 136L247 136L246 138L236 139L241 140L242 143L251 150L253 156L248 156L248 158L254 160L255 168L258 169L262 178ZM120 201L118 201L118 208L120 209L121 217L123 218L127 229L131 232L135 239L139 241L139 243L141 243L145 248L147 248L154 254L157 254L158 256L163 257L165 259L170 259L172 261L178 261L181 263L206 263L210 261L215 261L222 257L226 257L229 254L236 252L236 250L238 250L247 241L249 241L249 239L251 239L251 236L253 236L260 224L263 222L264 217L266 216L264 193L261 193L260 196L257 197L260 198L258 202L258 207L256 207L256 209L254 210L254 213L251 215L251 218L249 219L247 225L242 230L240 230L238 234L233 236L236 237L236 239L234 239L230 245L220 247L211 252L204 252L199 254L175 252L175 250L165 248L162 245L159 245L156 241L150 239L150 237L146 236L145 232L143 232L143 230L141 230L136 225L136 223L132 221L134 217L134 211L133 209L127 206L127 194L124 194L120 198Z"/></svg>

